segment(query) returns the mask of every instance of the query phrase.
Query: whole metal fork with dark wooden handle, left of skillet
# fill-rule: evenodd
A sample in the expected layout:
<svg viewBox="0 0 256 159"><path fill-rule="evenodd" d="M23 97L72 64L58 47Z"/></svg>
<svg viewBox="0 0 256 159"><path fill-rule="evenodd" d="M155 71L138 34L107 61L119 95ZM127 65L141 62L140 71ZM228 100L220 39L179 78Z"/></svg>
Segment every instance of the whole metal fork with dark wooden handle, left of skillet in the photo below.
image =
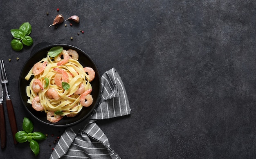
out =
<svg viewBox="0 0 256 159"><path fill-rule="evenodd" d="M10 98L10 95L8 94L8 90L7 90L6 83L8 83L8 79L7 79L7 76L6 76L6 72L5 72L5 68L4 68L4 61L3 60L0 61L0 67L1 67L0 80L1 80L2 84L4 84L4 87L5 87L6 107L7 107L9 122L10 122L10 125L11 125L11 132L12 132L12 136L13 136L13 143L17 144L17 141L15 139L15 134L18 131L17 130L17 123L16 123L16 118L15 118L15 113L14 113L14 110L13 110L13 105L12 105L12 102L11 102L11 98Z"/></svg>

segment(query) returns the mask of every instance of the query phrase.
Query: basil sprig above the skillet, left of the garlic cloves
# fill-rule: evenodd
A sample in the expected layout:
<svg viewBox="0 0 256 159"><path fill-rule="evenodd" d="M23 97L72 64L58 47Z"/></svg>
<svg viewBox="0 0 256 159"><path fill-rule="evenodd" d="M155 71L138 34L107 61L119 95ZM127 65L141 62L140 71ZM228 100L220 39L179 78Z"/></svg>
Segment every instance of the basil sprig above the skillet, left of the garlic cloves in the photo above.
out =
<svg viewBox="0 0 256 159"><path fill-rule="evenodd" d="M11 48L15 51L20 51L23 48L23 44L27 46L33 45L33 39L29 36L31 30L29 22L24 22L19 29L11 29L11 35L14 37L11 40Z"/></svg>

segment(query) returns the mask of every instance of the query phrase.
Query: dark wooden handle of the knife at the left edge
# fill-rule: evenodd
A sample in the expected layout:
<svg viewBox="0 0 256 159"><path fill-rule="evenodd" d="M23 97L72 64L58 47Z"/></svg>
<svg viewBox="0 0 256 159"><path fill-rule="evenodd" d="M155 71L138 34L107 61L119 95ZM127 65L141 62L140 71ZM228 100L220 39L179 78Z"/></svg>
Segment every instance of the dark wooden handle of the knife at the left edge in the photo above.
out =
<svg viewBox="0 0 256 159"><path fill-rule="evenodd" d="M5 127L5 118L4 118L4 107L3 104L0 104L0 138L1 138L1 148L6 146L6 127Z"/></svg>

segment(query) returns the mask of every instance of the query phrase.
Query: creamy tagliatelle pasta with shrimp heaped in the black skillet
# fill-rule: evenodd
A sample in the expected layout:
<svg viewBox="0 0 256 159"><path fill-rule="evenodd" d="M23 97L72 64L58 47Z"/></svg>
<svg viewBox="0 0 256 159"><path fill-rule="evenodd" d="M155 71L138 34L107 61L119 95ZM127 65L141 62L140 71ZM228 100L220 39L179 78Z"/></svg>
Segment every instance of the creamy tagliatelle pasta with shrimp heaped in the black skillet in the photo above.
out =
<svg viewBox="0 0 256 159"><path fill-rule="evenodd" d="M53 123L61 120L63 116L75 116L83 106L87 107L92 103L90 95L92 86L89 82L91 77L85 72L84 67L78 60L72 58L69 58L66 63L59 62L47 54L46 58L34 65L38 67L37 71L42 72L37 74L33 70L35 68L31 68L25 76L26 80L34 76L26 89L29 97L27 102L31 103L35 110L45 111L47 120ZM85 99L82 100L82 98ZM86 100L91 100L91 103Z"/></svg>

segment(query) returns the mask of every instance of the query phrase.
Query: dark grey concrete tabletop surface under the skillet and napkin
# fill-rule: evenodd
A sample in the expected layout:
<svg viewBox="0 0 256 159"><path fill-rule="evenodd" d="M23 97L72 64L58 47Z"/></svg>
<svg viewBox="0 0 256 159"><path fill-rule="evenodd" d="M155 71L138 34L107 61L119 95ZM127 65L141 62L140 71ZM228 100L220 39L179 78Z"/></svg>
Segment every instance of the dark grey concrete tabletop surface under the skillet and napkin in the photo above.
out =
<svg viewBox="0 0 256 159"><path fill-rule="evenodd" d="M132 113L97 123L121 158L256 156L254 0L0 0L0 4L0 54L9 72L18 130L25 116L31 118L18 94L22 66L36 44L63 43L87 52L101 75L112 67L119 72ZM81 22L48 28L58 13L64 18L77 15ZM10 29L23 22L32 26L34 45L15 52ZM81 29L84 34L78 36ZM6 107L5 111L7 116ZM0 150L0 158L49 158L52 142L65 128L32 120L35 130L54 134L39 143L40 154L34 157L28 143L13 146L7 119L7 147Z"/></svg>

